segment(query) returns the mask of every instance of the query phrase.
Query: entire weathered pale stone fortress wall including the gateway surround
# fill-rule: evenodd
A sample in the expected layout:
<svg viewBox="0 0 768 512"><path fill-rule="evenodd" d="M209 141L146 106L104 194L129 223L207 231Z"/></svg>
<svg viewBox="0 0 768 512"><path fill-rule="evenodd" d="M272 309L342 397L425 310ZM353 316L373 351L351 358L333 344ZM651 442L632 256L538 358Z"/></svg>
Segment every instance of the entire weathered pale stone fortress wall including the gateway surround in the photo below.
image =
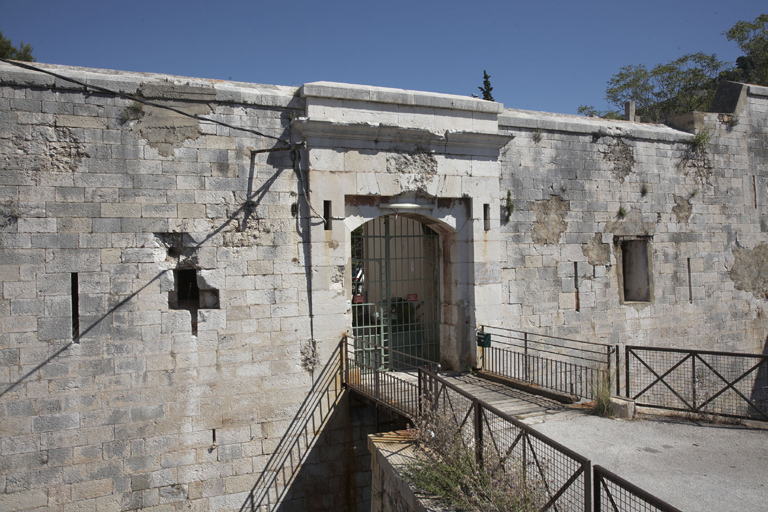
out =
<svg viewBox="0 0 768 512"><path fill-rule="evenodd" d="M4 510L240 509L352 325L351 233L382 215L440 236L447 367L474 363L480 324L764 349L767 88L679 120L707 140L413 91L36 66L0 64ZM315 470L346 482L336 498L285 509L349 507L354 459Z"/></svg>

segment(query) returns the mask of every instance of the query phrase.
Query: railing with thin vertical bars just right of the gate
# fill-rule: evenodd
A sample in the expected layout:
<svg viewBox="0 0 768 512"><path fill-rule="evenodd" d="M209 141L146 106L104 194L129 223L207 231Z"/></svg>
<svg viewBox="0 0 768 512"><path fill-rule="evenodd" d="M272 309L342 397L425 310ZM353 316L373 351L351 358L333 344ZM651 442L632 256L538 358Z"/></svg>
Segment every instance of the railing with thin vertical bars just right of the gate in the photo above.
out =
<svg viewBox="0 0 768 512"><path fill-rule="evenodd" d="M483 348L482 370L572 396L593 399L606 382L619 393L616 345L482 326L478 336L491 336Z"/></svg>

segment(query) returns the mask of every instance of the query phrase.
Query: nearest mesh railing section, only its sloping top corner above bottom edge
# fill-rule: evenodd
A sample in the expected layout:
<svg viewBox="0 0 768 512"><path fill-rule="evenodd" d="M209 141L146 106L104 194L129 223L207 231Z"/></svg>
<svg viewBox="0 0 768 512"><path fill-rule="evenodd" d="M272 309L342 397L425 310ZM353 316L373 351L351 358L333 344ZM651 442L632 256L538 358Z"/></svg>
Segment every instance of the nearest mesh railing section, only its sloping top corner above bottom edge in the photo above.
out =
<svg viewBox="0 0 768 512"><path fill-rule="evenodd" d="M594 512L681 512L602 466L595 465L592 471Z"/></svg>

